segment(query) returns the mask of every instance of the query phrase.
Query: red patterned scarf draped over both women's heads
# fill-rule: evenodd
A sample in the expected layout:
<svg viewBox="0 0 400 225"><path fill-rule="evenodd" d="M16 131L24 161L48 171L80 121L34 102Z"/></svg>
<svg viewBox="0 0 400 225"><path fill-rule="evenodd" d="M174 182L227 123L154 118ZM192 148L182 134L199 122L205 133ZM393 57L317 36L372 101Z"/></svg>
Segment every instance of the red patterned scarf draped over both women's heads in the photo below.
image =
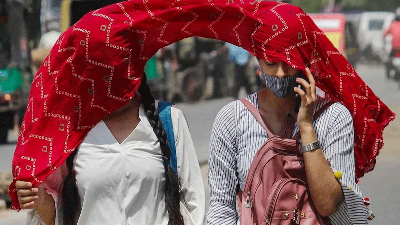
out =
<svg viewBox="0 0 400 225"><path fill-rule="evenodd" d="M310 66L326 97L354 119L356 178L371 171L394 113L300 8L253 0L130 0L86 14L64 32L34 77L12 171L39 185L104 116L140 85L146 60L189 36L242 46L259 58ZM15 183L13 209L19 209Z"/></svg>

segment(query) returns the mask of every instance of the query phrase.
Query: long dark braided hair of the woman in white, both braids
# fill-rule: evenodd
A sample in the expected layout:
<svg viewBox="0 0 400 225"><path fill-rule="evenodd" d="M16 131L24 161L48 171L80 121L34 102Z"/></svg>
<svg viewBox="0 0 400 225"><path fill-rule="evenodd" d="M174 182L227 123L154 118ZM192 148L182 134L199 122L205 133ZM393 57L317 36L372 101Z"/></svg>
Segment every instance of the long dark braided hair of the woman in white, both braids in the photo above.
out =
<svg viewBox="0 0 400 225"><path fill-rule="evenodd" d="M140 101L144 106L144 111L160 142L160 148L165 165L165 188L164 199L165 207L169 214L168 225L184 225L182 214L180 213L180 200L182 193L180 190L180 180L170 164L171 149L168 145L167 133L162 127L162 122L158 117L156 102L147 84L146 74L143 73L142 83L139 87ZM73 173L74 157L77 149L68 156L66 164L68 175L62 185L62 219L63 225L75 225L80 214L80 197L76 179Z"/></svg>

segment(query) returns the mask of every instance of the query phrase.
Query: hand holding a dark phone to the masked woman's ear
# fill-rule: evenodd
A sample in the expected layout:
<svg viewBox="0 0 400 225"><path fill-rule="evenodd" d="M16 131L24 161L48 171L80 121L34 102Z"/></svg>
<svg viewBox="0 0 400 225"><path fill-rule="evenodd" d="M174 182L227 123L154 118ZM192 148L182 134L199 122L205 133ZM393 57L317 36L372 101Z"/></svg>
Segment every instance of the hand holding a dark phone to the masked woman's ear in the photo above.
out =
<svg viewBox="0 0 400 225"><path fill-rule="evenodd" d="M300 88L294 88L294 91L301 97L300 109L297 114L297 125L300 131L304 129L313 129L312 119L314 117L314 108L317 100L314 77L309 68L306 68L306 72L310 83L303 78L296 78L296 82L304 87L305 92Z"/></svg>

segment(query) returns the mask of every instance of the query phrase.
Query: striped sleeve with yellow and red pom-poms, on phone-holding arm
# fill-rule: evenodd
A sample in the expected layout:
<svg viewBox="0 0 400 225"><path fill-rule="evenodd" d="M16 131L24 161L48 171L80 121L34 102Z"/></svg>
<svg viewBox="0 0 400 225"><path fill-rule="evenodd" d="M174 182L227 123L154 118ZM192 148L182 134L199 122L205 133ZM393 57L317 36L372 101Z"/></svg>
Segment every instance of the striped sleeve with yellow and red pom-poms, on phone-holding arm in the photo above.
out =
<svg viewBox="0 0 400 225"><path fill-rule="evenodd" d="M354 127L349 110L340 103L332 105L333 114L328 135L322 144L324 155L333 172L340 171L344 201L330 216L332 225L367 224L368 209L355 182Z"/></svg>

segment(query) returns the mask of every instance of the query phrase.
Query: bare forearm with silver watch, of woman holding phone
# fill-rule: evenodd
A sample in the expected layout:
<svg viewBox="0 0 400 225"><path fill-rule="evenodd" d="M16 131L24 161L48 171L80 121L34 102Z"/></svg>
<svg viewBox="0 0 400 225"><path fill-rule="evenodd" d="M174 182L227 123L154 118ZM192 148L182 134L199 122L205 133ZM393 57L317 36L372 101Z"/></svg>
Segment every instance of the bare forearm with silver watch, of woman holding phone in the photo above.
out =
<svg viewBox="0 0 400 225"><path fill-rule="evenodd" d="M300 129L302 145L318 141L312 125ZM303 153L308 187L314 205L323 216L332 215L343 201L340 184L328 165L322 149Z"/></svg>

